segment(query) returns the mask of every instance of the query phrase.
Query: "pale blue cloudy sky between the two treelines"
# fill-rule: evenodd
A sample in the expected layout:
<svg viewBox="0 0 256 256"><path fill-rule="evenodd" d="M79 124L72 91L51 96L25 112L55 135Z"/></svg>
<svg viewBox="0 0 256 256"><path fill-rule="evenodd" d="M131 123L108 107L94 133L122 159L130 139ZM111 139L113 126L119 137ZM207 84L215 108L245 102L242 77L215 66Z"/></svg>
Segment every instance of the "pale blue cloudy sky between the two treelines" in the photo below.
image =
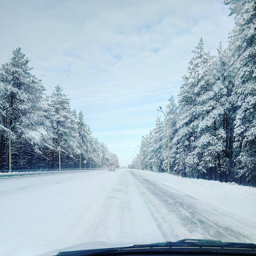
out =
<svg viewBox="0 0 256 256"><path fill-rule="evenodd" d="M60 85L127 166L156 109L178 100L191 50L216 54L234 26L223 0L0 0L0 63L21 47L50 94Z"/></svg>

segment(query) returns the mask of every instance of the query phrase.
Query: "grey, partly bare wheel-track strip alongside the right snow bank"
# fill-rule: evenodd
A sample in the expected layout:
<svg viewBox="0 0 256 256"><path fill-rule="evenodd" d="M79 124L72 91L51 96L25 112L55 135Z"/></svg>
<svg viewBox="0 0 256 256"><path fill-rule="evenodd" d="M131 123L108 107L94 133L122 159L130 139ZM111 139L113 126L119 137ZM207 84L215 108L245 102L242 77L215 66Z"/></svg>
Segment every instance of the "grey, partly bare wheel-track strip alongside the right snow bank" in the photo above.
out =
<svg viewBox="0 0 256 256"><path fill-rule="evenodd" d="M171 187L129 170L166 241L184 238L255 242L256 227Z"/></svg>

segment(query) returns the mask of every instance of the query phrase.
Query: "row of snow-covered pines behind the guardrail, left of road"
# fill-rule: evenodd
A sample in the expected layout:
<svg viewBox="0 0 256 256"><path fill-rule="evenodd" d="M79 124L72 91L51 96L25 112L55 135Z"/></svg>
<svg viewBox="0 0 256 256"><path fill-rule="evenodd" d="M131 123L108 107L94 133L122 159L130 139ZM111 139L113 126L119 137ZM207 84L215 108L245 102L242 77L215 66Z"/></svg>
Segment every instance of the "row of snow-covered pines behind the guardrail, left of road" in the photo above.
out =
<svg viewBox="0 0 256 256"><path fill-rule="evenodd" d="M59 169L59 153L61 169L79 168L80 158L83 168L83 160L89 168L118 164L93 137L82 111L70 109L61 87L46 95L31 69L20 48L0 68L0 170L9 170L10 128L12 170Z"/></svg>

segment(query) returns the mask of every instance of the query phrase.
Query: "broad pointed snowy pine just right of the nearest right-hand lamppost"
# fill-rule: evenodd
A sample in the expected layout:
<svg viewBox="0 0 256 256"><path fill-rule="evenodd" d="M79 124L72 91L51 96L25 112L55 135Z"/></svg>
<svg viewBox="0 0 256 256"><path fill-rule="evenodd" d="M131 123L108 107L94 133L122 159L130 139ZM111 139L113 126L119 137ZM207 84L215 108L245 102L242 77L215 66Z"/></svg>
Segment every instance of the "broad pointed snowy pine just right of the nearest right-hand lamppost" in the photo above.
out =
<svg viewBox="0 0 256 256"><path fill-rule="evenodd" d="M175 136L177 161L175 171L192 177L216 179L223 150L220 120L223 116L223 95L226 89L217 78L214 57L205 52L203 40L193 51L195 54L183 76L179 93L179 129Z"/></svg>

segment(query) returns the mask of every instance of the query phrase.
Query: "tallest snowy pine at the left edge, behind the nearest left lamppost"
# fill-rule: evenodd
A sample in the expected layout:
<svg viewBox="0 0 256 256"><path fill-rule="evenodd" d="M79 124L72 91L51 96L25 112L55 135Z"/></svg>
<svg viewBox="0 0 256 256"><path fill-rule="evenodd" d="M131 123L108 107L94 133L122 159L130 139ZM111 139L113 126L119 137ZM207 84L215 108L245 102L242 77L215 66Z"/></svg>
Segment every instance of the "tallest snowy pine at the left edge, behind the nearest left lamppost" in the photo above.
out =
<svg viewBox="0 0 256 256"><path fill-rule="evenodd" d="M13 163L19 167L32 168L35 153L49 146L50 138L45 124L41 80L30 73L29 59L21 48L13 51L10 62L2 65L0 81L1 97L1 146L0 168L7 167L8 132L14 121L11 137ZM19 142L16 143L18 140ZM22 150L21 150L22 149Z"/></svg>

